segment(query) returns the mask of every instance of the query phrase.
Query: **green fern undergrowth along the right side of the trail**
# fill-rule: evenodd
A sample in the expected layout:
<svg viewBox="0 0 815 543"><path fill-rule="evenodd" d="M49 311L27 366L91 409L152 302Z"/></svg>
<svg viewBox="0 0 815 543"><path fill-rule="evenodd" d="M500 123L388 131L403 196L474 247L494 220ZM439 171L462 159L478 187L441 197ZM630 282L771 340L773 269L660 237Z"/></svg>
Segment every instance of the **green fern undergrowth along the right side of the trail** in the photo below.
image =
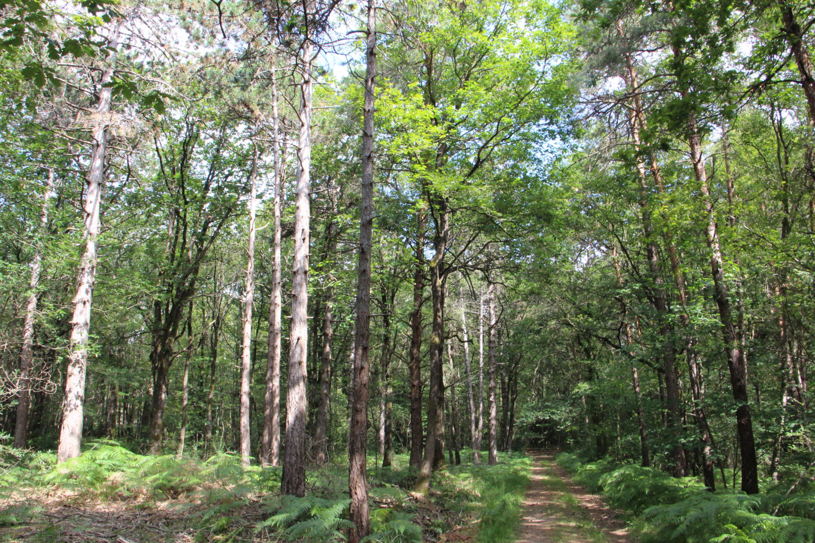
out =
<svg viewBox="0 0 815 543"><path fill-rule="evenodd" d="M582 462L560 454L557 462L575 482L601 492L630 515L641 543L813 543L815 488L748 496L708 492L692 477L674 478L651 467Z"/></svg>

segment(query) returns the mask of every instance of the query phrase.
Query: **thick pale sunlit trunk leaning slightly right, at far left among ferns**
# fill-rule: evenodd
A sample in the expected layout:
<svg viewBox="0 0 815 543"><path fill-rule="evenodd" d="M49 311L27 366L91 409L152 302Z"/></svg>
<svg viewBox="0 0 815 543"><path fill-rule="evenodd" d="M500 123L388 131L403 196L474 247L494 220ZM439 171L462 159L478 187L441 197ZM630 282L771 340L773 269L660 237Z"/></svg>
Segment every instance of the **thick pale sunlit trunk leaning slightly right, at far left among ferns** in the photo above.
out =
<svg viewBox="0 0 815 543"><path fill-rule="evenodd" d="M65 398L62 426L59 428L57 462L76 458L81 453L82 411L85 403L85 374L88 365L88 338L90 335L90 304L96 280L97 238L99 212L104 193L105 155L108 150L108 122L112 105L113 71L119 47L121 20L115 20L108 35L105 68L99 78L99 103L95 114L99 118L90 144L90 169L86 177L85 192L85 252L82 254L77 279L77 296L73 298L70 355L65 374Z"/></svg>

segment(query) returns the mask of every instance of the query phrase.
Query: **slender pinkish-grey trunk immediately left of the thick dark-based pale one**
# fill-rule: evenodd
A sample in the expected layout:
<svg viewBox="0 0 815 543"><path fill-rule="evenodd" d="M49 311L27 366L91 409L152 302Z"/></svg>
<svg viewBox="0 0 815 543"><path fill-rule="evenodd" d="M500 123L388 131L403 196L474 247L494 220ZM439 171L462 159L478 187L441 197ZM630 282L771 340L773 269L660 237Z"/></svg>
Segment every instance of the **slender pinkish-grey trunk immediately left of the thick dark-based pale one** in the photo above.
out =
<svg viewBox="0 0 815 543"><path fill-rule="evenodd" d="M274 69L272 70L274 72ZM282 338L281 322L283 304L281 303L281 263L280 243L282 226L280 224L283 206L283 169L280 160L280 117L277 112L277 82L273 75L271 80L272 96L272 145L274 149L274 241L272 242L271 302L269 308L269 348L266 365L266 392L263 396L263 432L261 444L261 463L263 466L280 465L280 348Z"/></svg>

